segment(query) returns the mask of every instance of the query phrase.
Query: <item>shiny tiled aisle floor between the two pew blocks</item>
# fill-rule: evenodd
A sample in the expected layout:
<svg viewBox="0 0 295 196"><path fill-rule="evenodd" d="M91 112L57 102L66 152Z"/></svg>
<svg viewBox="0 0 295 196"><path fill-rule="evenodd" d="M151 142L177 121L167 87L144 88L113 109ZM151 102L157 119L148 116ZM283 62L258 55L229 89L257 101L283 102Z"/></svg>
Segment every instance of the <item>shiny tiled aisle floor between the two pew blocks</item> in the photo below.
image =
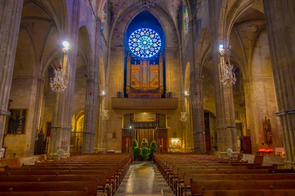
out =
<svg viewBox="0 0 295 196"><path fill-rule="evenodd" d="M116 196L173 196L173 192L152 162L133 162Z"/></svg>

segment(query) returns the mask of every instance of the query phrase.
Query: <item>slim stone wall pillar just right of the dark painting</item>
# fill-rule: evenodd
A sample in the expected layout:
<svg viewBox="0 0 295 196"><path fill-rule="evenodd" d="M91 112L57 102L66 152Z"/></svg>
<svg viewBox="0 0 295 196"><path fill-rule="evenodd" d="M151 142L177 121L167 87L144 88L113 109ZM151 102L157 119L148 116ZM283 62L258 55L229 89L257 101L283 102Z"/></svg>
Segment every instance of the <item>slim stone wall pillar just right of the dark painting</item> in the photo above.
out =
<svg viewBox="0 0 295 196"><path fill-rule="evenodd" d="M35 110L34 110L34 119L31 135L31 144L28 154L34 154L34 146L35 146L35 137L38 135L38 128L40 123L40 114L41 114L41 106L42 106L42 99L43 99L43 90L44 90L45 81L42 77L37 79L37 92L36 92L36 99L35 99Z"/></svg>

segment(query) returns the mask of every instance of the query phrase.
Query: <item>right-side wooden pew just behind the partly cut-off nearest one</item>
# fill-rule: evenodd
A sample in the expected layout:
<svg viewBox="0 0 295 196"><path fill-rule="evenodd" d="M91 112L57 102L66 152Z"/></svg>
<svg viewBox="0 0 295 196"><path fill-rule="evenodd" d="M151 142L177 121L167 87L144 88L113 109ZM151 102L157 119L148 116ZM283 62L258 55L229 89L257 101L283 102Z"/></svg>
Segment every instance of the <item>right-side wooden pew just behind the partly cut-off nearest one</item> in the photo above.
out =
<svg viewBox="0 0 295 196"><path fill-rule="evenodd" d="M190 179L191 195L215 190L295 189L295 180L193 180Z"/></svg>

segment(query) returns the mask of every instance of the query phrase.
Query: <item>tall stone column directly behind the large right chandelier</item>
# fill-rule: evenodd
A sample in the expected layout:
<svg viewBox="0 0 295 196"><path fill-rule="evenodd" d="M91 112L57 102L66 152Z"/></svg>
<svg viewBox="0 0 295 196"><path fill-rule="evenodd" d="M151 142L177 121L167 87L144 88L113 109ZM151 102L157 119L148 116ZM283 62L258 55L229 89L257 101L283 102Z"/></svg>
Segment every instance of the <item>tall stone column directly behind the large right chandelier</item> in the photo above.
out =
<svg viewBox="0 0 295 196"><path fill-rule="evenodd" d="M226 54L220 55L218 46L228 45L225 30L225 13L221 1L208 0L209 23L211 36L212 73L215 92L216 125L218 138L218 151L220 156L227 156L227 149L231 148L237 153L235 108L232 86L227 87L221 83L220 63L226 60ZM229 59L228 59L229 60ZM223 62L225 63L225 62Z"/></svg>

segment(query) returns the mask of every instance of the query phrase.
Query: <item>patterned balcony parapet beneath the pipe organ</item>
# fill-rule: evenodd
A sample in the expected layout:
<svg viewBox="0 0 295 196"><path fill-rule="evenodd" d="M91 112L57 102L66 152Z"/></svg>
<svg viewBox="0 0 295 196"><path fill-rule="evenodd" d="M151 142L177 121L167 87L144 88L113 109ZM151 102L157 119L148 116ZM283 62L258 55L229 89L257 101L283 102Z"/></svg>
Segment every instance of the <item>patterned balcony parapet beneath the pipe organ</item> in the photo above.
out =
<svg viewBox="0 0 295 196"><path fill-rule="evenodd" d="M178 98L112 98L113 109L168 109L178 108Z"/></svg>

